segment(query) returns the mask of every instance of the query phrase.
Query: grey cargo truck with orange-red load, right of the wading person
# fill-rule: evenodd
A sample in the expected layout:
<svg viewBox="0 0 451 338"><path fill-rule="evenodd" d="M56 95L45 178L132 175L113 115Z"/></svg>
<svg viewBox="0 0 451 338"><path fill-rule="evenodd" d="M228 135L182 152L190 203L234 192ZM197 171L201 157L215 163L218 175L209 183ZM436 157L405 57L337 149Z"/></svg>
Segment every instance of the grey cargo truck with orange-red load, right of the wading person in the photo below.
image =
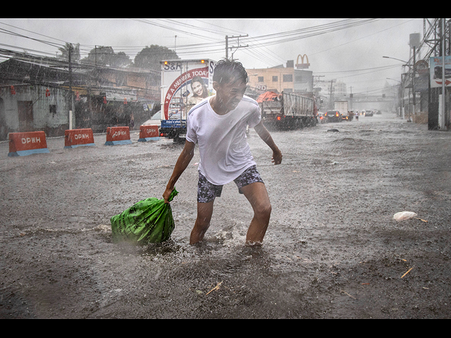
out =
<svg viewBox="0 0 451 338"><path fill-rule="evenodd" d="M313 95L293 92L265 92L257 98L264 125L278 130L316 125L317 108Z"/></svg>

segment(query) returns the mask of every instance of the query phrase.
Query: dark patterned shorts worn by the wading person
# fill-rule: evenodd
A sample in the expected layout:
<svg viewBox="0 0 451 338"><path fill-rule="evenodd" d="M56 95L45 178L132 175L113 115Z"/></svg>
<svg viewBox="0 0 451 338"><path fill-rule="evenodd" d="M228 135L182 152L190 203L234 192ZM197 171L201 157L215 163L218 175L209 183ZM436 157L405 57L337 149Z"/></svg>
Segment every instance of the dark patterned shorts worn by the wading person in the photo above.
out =
<svg viewBox="0 0 451 338"><path fill-rule="evenodd" d="M252 165L245 170L240 176L233 180L237 184L238 192L242 194L241 188L248 184L261 182L264 183L257 171L257 165ZM221 197L223 191L222 185L215 185L206 180L205 176L199 173L199 183L197 184L197 201L199 203L208 203L216 197Z"/></svg>

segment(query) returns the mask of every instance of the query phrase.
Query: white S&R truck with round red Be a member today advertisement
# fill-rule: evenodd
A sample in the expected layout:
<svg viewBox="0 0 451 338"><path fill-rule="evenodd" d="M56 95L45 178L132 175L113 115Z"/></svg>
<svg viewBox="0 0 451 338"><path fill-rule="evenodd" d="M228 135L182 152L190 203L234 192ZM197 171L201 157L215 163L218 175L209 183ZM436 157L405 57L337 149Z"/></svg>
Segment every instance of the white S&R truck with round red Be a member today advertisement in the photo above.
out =
<svg viewBox="0 0 451 338"><path fill-rule="evenodd" d="M214 95L216 61L202 58L161 61L160 137L184 142L187 113L202 99Z"/></svg>

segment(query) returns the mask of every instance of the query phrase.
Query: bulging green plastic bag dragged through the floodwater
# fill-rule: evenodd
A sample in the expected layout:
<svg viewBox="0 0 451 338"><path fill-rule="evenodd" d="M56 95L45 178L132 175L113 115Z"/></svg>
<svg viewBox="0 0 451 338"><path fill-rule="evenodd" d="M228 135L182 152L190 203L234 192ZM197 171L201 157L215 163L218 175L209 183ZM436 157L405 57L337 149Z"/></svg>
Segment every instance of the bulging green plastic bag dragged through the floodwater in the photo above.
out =
<svg viewBox="0 0 451 338"><path fill-rule="evenodd" d="M174 189L168 201L177 194ZM165 242L175 227L171 205L155 197L137 202L110 220L113 242L116 243L124 239L137 244Z"/></svg>

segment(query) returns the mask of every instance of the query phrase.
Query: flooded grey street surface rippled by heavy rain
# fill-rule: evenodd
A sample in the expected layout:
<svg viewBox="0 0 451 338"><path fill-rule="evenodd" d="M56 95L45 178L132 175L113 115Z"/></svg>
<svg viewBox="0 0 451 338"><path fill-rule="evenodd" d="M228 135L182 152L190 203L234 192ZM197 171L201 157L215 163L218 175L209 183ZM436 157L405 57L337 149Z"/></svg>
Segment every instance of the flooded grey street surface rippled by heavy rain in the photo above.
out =
<svg viewBox="0 0 451 338"><path fill-rule="evenodd" d="M198 151L171 240L111 242L112 215L161 198L171 140L56 138L16 158L0 143L0 318L450 318L451 134L388 113L271 134L281 165L248 139L273 210L261 248L244 246L252 209L233 183L190 246Z"/></svg>

